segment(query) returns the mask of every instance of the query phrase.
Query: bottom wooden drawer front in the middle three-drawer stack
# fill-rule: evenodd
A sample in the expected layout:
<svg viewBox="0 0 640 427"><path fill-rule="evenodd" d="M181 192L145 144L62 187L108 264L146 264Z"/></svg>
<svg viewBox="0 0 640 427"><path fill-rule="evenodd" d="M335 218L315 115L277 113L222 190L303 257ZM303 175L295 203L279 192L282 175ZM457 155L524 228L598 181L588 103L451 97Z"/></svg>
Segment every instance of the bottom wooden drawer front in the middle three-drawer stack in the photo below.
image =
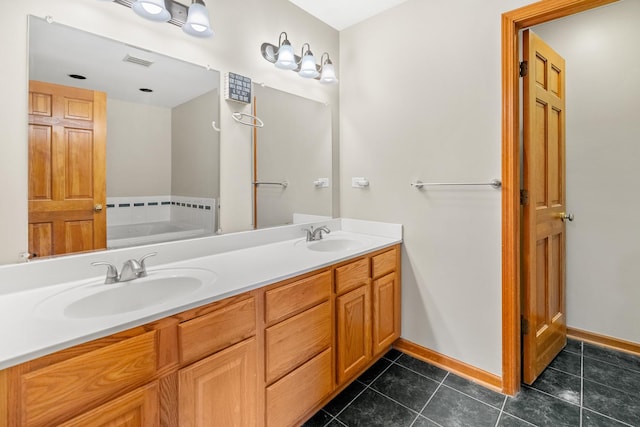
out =
<svg viewBox="0 0 640 427"><path fill-rule="evenodd" d="M267 427L297 425L300 418L333 391L328 348L267 387Z"/></svg>

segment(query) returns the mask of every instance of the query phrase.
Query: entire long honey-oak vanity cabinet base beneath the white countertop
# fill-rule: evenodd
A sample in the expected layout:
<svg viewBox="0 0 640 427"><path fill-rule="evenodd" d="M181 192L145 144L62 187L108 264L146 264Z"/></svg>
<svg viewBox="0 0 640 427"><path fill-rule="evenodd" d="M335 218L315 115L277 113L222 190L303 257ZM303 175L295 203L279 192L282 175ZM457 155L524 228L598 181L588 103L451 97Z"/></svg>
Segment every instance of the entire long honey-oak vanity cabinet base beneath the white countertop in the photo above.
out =
<svg viewBox="0 0 640 427"><path fill-rule="evenodd" d="M400 336L394 246L0 370L0 427L290 427Z"/></svg>

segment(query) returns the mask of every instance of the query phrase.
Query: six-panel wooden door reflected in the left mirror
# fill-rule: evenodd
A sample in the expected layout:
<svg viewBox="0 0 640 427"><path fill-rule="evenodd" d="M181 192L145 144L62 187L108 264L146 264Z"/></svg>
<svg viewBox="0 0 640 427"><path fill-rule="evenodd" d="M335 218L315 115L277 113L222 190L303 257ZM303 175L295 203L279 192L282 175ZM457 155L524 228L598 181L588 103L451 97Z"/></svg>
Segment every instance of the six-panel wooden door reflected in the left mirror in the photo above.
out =
<svg viewBox="0 0 640 427"><path fill-rule="evenodd" d="M29 252L106 248L106 95L29 83Z"/></svg>

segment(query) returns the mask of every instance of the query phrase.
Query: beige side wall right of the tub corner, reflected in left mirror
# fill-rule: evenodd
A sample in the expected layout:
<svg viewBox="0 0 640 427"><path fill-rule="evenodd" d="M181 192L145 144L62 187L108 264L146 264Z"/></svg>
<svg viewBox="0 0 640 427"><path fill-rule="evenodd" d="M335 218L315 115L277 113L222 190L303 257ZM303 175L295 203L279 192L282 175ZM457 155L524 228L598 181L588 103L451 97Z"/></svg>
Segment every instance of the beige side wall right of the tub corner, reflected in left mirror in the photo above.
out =
<svg viewBox="0 0 640 427"><path fill-rule="evenodd" d="M171 111L171 194L218 198L220 195L219 91L214 90Z"/></svg>

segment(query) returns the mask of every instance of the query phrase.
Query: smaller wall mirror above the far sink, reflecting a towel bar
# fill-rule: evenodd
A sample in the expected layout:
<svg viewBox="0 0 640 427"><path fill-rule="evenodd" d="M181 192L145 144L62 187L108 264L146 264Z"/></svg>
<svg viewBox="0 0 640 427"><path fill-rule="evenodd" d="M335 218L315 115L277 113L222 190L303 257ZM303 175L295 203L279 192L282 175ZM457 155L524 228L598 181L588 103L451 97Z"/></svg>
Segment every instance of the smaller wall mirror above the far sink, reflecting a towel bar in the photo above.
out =
<svg viewBox="0 0 640 427"><path fill-rule="evenodd" d="M331 217L330 107L261 85L254 96L264 123L252 133L256 228Z"/></svg>

